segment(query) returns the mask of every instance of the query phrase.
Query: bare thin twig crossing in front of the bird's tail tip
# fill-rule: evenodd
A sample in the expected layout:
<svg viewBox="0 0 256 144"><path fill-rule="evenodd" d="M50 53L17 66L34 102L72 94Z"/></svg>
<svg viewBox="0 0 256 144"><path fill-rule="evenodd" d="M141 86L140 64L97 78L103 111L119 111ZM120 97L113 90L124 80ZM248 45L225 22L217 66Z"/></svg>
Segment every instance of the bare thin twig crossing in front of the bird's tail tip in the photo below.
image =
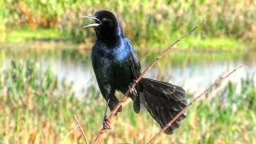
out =
<svg viewBox="0 0 256 144"><path fill-rule="evenodd" d="M190 104L188 104L182 111L180 111L165 127L163 127L162 130L161 130L158 134L156 134L156 135L154 136L154 138L152 138L152 139L150 140L150 142L148 142L148 144L154 142L154 140L156 140L162 133L164 133L164 131L165 131L166 129L168 129L168 127L170 127L171 124L174 123L175 120L176 120L179 116L181 116L182 114L184 114L185 111L186 111L190 106L192 106L192 104L193 104L194 102L197 102L199 98L201 98L203 95L207 94L207 93L209 92L209 90L211 90L212 88L214 88L214 86L217 86L217 85L218 85L220 82L222 82L225 78L228 78L231 74L234 73L234 71L238 70L238 69L241 68L241 67L242 67L242 66L239 66L239 67L235 68L235 69L232 70L229 74L226 74L224 77L218 79L216 82L214 82L213 85L211 85L208 89L206 89L204 92L202 92L202 94L200 94L200 95L198 95L198 97L194 98L194 100L193 100L192 102L190 102Z"/></svg>

